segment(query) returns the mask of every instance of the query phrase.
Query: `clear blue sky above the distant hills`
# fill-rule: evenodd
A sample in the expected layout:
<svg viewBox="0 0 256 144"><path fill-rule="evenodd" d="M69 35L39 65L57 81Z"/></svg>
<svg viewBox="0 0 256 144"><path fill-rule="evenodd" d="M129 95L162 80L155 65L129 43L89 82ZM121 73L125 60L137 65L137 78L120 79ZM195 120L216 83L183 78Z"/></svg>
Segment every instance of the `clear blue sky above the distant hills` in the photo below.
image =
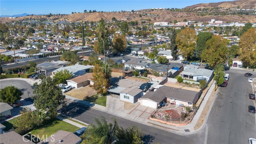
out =
<svg viewBox="0 0 256 144"><path fill-rule="evenodd" d="M0 0L0 15L184 8L194 4L223 1L231 0Z"/></svg>

